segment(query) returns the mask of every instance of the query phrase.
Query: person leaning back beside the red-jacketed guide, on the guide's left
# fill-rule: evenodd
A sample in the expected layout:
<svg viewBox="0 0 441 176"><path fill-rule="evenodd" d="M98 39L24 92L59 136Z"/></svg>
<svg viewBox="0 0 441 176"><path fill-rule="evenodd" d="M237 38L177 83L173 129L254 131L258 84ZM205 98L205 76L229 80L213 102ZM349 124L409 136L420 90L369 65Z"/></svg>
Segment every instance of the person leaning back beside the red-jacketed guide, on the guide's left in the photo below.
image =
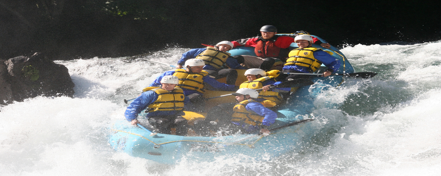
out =
<svg viewBox="0 0 441 176"><path fill-rule="evenodd" d="M233 48L233 44L229 41L221 41L216 46L208 46L207 48L192 49L182 54L178 60L176 68L183 68L183 64L188 59L202 59L205 62L203 70L208 72L215 79L226 77L227 84L235 84L237 79L237 71L234 69L247 69L240 64L243 60L237 60L230 56L227 51ZM228 67L229 68L228 68Z"/></svg>

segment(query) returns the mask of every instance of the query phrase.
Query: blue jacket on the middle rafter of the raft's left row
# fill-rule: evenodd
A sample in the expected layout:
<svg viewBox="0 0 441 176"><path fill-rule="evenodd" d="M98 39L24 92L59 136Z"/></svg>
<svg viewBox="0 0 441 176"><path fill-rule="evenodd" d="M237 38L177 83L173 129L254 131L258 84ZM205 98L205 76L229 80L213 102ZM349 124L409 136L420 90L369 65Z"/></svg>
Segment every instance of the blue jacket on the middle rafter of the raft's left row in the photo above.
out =
<svg viewBox="0 0 441 176"><path fill-rule="evenodd" d="M149 85L149 87L161 87L160 81L161 81L162 77L167 76L167 75L173 75L174 73L175 73L175 71L166 71L166 72L162 73L161 75L159 75L159 77L156 77L156 80L154 80ZM202 80L204 82L206 82L207 84L210 84L211 86L213 86L213 88L219 89L221 91L235 91L236 90L234 88L234 85L221 83L221 82L216 81L215 79L213 79L209 76L203 77ZM196 90L190 90L187 88L182 88L182 90L184 91L184 95L190 95L190 94L195 94L195 93L202 95L201 92L198 92Z"/></svg>

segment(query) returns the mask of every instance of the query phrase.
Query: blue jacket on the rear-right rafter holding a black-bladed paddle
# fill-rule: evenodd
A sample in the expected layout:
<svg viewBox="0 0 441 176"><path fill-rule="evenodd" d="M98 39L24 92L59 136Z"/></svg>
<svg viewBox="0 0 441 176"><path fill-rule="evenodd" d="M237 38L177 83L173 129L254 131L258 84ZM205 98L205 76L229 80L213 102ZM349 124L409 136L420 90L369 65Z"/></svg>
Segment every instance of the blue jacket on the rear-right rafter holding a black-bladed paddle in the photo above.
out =
<svg viewBox="0 0 441 176"><path fill-rule="evenodd" d="M325 51L315 51L314 58L323 63L323 65L327 66L328 69L333 70L333 72L337 71L340 68L340 60L334 58L332 55L329 55ZM302 73L310 73L308 67L298 66L298 65L289 65L284 66L283 70L294 70Z"/></svg>

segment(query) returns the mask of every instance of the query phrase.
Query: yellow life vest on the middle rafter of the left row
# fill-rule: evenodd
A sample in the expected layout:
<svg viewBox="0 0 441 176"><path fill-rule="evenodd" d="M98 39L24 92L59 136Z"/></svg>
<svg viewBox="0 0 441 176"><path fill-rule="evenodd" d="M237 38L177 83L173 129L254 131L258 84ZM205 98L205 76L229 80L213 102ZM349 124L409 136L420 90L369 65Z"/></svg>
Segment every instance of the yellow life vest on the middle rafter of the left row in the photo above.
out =
<svg viewBox="0 0 441 176"><path fill-rule="evenodd" d="M179 84L176 85L178 88L187 88L190 90L196 90L198 92L204 93L204 80L203 77L207 76L208 72L202 70L201 73L191 73L184 69L176 69L173 76L179 78Z"/></svg>

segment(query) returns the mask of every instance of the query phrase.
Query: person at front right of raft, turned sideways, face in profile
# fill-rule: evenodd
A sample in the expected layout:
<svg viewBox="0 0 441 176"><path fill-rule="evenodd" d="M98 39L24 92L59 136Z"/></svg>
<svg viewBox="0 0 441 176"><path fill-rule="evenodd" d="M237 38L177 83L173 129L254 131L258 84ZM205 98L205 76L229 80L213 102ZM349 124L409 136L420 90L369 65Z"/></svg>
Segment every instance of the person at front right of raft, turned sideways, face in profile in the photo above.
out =
<svg viewBox="0 0 441 176"><path fill-rule="evenodd" d="M209 129L217 131L222 127L233 134L240 131L268 135L268 128L276 121L277 114L254 101L259 93L251 88L240 88L232 94L236 95L237 104L224 103L213 107L204 120L194 121L194 130L201 136L209 136Z"/></svg>

